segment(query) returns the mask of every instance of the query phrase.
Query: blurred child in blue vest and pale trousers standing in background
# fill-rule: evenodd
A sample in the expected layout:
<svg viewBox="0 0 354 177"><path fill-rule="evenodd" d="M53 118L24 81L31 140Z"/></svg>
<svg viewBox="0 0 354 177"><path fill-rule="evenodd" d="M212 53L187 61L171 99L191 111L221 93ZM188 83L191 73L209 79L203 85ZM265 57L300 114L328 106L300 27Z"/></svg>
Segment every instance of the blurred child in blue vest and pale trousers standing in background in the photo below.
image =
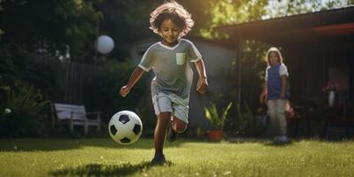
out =
<svg viewBox="0 0 354 177"><path fill-rule="evenodd" d="M261 104L267 105L270 125L275 130L276 142L288 142L285 105L289 99L287 89L288 69L283 64L281 51L275 47L266 53L266 84L259 97Z"/></svg>

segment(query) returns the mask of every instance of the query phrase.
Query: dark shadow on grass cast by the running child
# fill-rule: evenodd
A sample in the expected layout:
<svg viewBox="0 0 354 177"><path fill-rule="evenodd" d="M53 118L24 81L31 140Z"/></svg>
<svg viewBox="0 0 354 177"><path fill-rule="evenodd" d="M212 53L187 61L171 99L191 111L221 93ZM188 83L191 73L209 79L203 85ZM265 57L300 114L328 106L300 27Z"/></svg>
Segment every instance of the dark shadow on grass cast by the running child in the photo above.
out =
<svg viewBox="0 0 354 177"><path fill-rule="evenodd" d="M167 162L165 165L172 165L171 162ZM165 166L161 165L161 166ZM129 174L142 172L148 170L152 166L150 162L142 162L137 165L131 165L130 163L121 165L101 165L101 164L89 164L78 166L76 168L65 168L49 173L50 176L126 176Z"/></svg>

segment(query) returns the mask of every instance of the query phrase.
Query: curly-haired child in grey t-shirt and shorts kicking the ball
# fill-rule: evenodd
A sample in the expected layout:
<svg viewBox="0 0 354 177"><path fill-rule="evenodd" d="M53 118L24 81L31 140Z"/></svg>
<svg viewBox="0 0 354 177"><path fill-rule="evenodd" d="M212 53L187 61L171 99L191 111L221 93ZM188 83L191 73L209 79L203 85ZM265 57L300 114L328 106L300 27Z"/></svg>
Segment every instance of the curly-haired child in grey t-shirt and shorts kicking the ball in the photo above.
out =
<svg viewBox="0 0 354 177"><path fill-rule="evenodd" d="M199 73L196 90L204 93L208 82L200 52L192 42L181 39L194 25L189 12L181 4L170 1L158 6L150 16L150 29L160 35L162 41L146 50L119 94L127 96L142 73L150 69L155 73L151 81L151 96L158 122L154 132L155 156L151 163L164 164L163 146L167 130L167 140L173 142L177 133L184 132L189 123L189 91L193 81L191 63L196 65Z"/></svg>

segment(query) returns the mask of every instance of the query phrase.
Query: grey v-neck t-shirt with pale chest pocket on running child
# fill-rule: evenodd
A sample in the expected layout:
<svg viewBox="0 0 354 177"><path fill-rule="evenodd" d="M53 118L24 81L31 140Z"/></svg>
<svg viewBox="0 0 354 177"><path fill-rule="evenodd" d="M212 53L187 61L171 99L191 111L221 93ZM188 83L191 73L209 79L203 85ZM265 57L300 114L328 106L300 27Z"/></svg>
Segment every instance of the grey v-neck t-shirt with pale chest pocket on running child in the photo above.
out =
<svg viewBox="0 0 354 177"><path fill-rule="evenodd" d="M180 39L173 47L157 42L146 50L139 67L144 71L152 68L155 73L151 81L152 96L165 93L187 98L193 81L190 63L201 58L200 52L188 40Z"/></svg>

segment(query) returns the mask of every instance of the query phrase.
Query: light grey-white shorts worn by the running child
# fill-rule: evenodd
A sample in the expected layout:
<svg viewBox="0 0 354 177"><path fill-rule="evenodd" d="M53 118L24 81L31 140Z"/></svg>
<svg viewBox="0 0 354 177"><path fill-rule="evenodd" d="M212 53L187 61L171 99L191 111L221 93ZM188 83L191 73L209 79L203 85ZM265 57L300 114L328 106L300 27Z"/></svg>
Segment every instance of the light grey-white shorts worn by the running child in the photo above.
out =
<svg viewBox="0 0 354 177"><path fill-rule="evenodd" d="M181 119L183 122L189 123L189 98L181 98L174 94L158 93L152 96L152 104L154 104L155 114L158 116L161 112L171 112L174 117Z"/></svg>

